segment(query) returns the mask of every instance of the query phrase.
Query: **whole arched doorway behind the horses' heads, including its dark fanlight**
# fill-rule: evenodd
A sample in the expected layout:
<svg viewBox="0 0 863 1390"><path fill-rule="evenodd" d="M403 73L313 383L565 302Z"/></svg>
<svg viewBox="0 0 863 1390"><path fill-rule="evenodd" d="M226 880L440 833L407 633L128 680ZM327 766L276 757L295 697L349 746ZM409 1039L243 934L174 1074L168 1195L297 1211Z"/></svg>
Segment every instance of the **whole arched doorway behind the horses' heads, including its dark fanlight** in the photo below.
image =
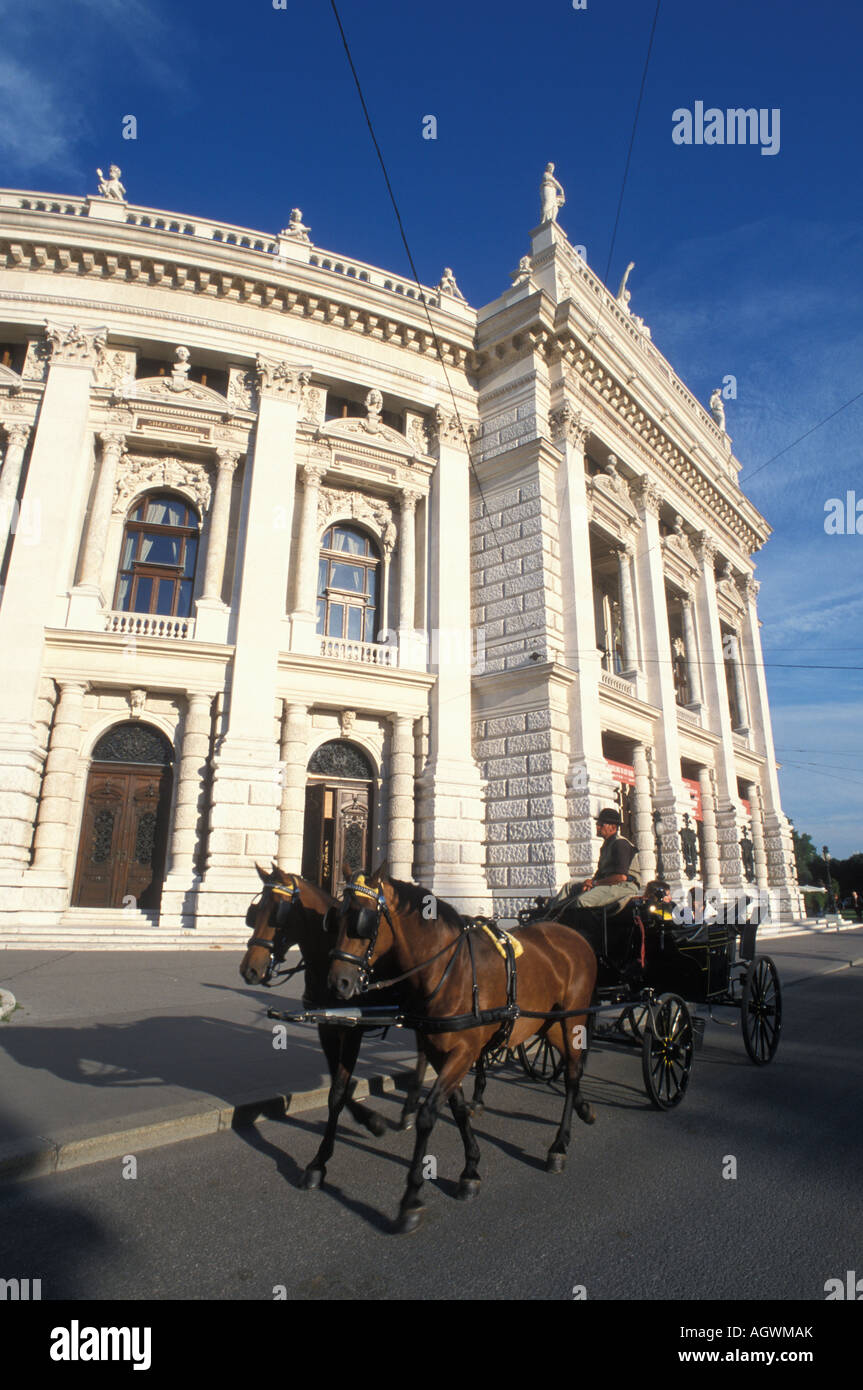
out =
<svg viewBox="0 0 863 1390"><path fill-rule="evenodd" d="M356 744L334 738L313 753L306 784L303 877L334 897L343 860L353 873L371 867L372 787L374 767Z"/></svg>

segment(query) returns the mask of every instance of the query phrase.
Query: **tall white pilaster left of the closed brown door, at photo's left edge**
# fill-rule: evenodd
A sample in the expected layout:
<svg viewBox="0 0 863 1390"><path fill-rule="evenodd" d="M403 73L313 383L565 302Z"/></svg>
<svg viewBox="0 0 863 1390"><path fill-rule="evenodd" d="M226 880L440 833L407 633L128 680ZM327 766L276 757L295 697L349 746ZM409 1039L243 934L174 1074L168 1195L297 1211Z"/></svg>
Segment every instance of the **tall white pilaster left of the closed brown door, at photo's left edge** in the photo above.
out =
<svg viewBox="0 0 863 1390"><path fill-rule="evenodd" d="M81 543L90 436L90 373L107 329L49 327L53 349L28 470L39 545L14 545L0 606L0 913L17 910L29 862L44 752L33 712L44 628L65 623L74 553ZM4 865L10 866L8 873Z"/></svg>

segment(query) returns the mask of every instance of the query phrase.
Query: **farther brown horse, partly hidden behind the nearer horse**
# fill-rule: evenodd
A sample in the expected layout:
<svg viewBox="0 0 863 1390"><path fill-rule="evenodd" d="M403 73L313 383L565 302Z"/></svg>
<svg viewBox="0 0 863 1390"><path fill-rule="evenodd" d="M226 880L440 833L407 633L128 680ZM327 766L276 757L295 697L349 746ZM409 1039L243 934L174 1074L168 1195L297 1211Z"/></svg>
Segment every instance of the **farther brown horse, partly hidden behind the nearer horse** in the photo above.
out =
<svg viewBox="0 0 863 1390"><path fill-rule="evenodd" d="M336 899L331 898L324 888L300 878L299 874L283 873L275 865L270 872L261 869L260 865L256 865L256 869L264 884L264 891L260 902L253 905L247 913L252 940L240 960L240 976L246 984L268 984L274 965L281 965L289 947L299 945L306 970L304 1002L310 1008L324 1008L332 1004L327 974L335 935L325 931L324 917L331 908L338 908ZM386 1122L367 1105L360 1105L350 1094L350 1081L357 1065L363 1030L320 1023L318 1037L332 1079L328 1102L329 1122L318 1152L303 1176L304 1187L320 1187L324 1180L327 1162L335 1147L339 1113L345 1105L370 1133L377 1137L386 1133ZM407 1097L399 1120L402 1130L413 1129L427 1069L427 1056L421 1048L417 1048L417 1065L407 1086Z"/></svg>

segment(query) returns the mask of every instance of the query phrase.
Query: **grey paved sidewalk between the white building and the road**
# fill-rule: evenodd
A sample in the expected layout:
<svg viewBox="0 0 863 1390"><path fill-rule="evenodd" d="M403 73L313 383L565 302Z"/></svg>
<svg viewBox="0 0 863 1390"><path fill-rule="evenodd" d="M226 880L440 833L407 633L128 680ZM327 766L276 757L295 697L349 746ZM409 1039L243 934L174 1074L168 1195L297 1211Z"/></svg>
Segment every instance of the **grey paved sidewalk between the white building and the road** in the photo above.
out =
<svg viewBox="0 0 863 1390"><path fill-rule="evenodd" d="M863 929L759 937L782 987L863 965ZM293 952L288 963L292 962ZM242 952L15 951L0 990L0 1182L229 1129L261 1111L325 1104L317 1030L289 1024L274 1048L268 1006L300 1008L302 974L278 990L239 977ZM359 1094L413 1066L413 1034L365 1038Z"/></svg>

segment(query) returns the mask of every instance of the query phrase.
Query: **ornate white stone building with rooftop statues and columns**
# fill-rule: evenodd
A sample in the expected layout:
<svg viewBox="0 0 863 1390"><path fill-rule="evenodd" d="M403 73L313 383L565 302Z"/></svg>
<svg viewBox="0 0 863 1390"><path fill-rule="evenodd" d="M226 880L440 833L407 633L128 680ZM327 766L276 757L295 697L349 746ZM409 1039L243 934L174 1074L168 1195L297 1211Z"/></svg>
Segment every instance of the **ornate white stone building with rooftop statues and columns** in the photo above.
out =
<svg viewBox="0 0 863 1390"><path fill-rule="evenodd" d="M646 873L796 910L769 527L630 292L531 240L477 311L299 211L0 192L7 940L236 933L254 859L506 913L614 801Z"/></svg>

